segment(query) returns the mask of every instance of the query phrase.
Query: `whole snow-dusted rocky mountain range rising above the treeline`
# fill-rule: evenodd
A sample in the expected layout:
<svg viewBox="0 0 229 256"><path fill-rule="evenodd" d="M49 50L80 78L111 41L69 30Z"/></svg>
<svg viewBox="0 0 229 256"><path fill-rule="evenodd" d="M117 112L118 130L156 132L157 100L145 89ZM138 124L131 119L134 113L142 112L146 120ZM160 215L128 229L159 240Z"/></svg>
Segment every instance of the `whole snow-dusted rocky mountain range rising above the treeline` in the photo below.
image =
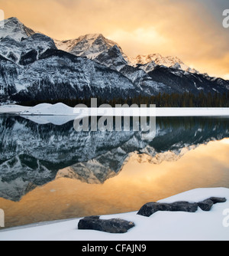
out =
<svg viewBox="0 0 229 256"><path fill-rule="evenodd" d="M8 18L0 28L0 102L159 93L223 94L229 80L200 74L179 57L128 57L102 34L58 41Z"/></svg>

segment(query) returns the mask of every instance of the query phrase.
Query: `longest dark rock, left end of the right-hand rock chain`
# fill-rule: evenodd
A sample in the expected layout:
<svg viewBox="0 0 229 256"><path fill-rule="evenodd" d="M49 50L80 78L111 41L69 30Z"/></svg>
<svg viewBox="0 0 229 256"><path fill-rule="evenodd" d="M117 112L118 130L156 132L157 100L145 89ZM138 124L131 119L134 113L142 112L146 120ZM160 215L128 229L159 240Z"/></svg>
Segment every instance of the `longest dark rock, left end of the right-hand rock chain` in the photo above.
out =
<svg viewBox="0 0 229 256"><path fill-rule="evenodd" d="M173 203L160 203L160 202L148 202L143 205L137 215L143 215L149 217L157 211L169 211L169 212L195 212L198 208L197 203L179 201Z"/></svg>

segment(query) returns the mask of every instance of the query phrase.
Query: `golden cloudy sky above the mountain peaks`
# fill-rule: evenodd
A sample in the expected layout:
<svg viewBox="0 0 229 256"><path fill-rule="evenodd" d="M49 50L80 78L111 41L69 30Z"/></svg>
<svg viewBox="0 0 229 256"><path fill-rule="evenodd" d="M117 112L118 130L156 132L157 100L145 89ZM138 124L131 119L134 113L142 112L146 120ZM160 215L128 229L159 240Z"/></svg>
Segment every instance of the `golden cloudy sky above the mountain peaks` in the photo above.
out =
<svg viewBox="0 0 229 256"><path fill-rule="evenodd" d="M101 33L128 56L176 56L229 80L228 0L0 0L0 9L51 38Z"/></svg>

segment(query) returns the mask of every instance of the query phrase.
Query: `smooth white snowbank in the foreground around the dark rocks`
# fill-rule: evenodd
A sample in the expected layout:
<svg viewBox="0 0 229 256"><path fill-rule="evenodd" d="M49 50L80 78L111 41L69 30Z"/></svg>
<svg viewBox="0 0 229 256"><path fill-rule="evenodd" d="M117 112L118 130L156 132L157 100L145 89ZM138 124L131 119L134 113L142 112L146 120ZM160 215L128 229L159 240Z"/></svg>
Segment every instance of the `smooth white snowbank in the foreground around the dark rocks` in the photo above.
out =
<svg viewBox="0 0 229 256"><path fill-rule="evenodd" d="M211 196L224 197L227 202L217 203L210 212L156 212L150 217L128 212L105 215L101 218L124 218L135 227L125 234L79 230L79 218L60 222L40 223L0 232L0 240L47 241L154 241L154 240L229 240L229 189L192 189L159 202L200 202Z"/></svg>

